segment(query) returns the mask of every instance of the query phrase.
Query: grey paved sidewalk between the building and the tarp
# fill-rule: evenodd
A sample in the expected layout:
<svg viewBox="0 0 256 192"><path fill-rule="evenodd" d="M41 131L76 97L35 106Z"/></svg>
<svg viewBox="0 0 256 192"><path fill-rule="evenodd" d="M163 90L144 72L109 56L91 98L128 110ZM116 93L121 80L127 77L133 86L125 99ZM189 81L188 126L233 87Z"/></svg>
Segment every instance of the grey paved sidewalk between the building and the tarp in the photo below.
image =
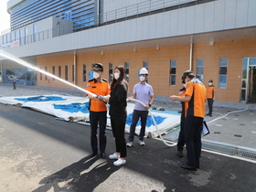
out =
<svg viewBox="0 0 256 192"><path fill-rule="evenodd" d="M0 83L0 96L2 97L50 94L85 97L84 92L73 88L61 89L16 85L16 90L13 90L12 84ZM165 111L181 110L181 104L179 102L170 101L167 97L156 96L152 108L154 107L164 108ZM202 141L256 152L255 114L256 104L215 101L213 105L213 116L206 116L205 118L208 122L210 133L203 137ZM177 134L178 130L166 134L165 139L176 140Z"/></svg>

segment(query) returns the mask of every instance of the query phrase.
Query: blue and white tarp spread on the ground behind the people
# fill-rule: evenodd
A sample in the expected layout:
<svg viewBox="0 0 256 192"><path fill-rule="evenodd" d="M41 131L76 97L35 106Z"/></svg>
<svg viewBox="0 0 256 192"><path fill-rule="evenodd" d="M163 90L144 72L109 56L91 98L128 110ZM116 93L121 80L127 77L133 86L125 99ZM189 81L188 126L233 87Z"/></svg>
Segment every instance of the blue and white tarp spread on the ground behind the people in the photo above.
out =
<svg viewBox="0 0 256 192"><path fill-rule="evenodd" d="M89 123L89 99L85 97L74 97L66 95L38 95L38 96L21 96L21 97L1 97L1 103L19 105L28 107L38 112L45 112L65 121L88 122ZM108 106L106 106L108 107ZM129 133L132 123L134 102L127 103L127 121L125 132ZM154 115L155 122L159 132L165 133L180 123L180 114L170 114L165 112L151 111ZM111 127L110 116L108 114L107 126ZM137 123L135 133L140 133L140 121ZM155 123L151 115L148 115L146 123L146 136L158 136Z"/></svg>

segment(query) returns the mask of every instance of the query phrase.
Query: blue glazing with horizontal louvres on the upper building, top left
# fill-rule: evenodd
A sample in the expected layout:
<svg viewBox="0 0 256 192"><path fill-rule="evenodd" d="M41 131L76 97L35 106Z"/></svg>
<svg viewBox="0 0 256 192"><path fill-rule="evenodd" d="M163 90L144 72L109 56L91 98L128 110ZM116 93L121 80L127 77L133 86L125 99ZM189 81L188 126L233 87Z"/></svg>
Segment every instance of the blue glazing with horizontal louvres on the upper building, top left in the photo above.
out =
<svg viewBox="0 0 256 192"><path fill-rule="evenodd" d="M44 0L32 1L11 13L11 27L15 30L48 16L57 16L74 23L74 29L94 25L94 1Z"/></svg>

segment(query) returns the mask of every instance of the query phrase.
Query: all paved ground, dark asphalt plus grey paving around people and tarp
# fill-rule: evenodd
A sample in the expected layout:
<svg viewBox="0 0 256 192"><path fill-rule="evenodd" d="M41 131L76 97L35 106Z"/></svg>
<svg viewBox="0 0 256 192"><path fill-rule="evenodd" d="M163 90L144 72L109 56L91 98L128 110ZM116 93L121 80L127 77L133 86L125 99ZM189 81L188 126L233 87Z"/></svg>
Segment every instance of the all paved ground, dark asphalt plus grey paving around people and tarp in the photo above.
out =
<svg viewBox="0 0 256 192"><path fill-rule="evenodd" d="M1 96L44 94L84 95L77 90L18 85L14 91L11 85L0 83ZM177 102L156 99L153 107L180 110ZM206 118L211 133L203 138L205 148L200 168L191 172L179 167L186 163L186 157L178 158L176 147L166 147L150 138L145 139L144 147L135 144L128 149L127 164L122 167L114 167L108 159L89 159L90 139L84 137L90 135L90 129L54 120L40 112L0 104L0 191L253 192L256 191L255 113L252 104L215 102L213 117ZM18 130L17 123L22 125ZM168 133L165 138L175 134ZM109 155L114 142L111 132L107 137ZM232 149L235 152L231 154L221 152ZM236 154L238 150L251 153L251 159Z"/></svg>

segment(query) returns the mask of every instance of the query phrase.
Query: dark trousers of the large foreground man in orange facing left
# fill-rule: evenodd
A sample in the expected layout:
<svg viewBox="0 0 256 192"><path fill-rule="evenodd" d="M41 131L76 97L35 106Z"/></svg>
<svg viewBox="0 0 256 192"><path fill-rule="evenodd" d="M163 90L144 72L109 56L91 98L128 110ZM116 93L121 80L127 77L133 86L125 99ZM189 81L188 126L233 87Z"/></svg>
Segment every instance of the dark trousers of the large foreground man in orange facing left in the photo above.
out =
<svg viewBox="0 0 256 192"><path fill-rule="evenodd" d="M188 116L185 119L184 133L187 147L187 165L189 166L199 166L203 120L203 118L195 116Z"/></svg>

